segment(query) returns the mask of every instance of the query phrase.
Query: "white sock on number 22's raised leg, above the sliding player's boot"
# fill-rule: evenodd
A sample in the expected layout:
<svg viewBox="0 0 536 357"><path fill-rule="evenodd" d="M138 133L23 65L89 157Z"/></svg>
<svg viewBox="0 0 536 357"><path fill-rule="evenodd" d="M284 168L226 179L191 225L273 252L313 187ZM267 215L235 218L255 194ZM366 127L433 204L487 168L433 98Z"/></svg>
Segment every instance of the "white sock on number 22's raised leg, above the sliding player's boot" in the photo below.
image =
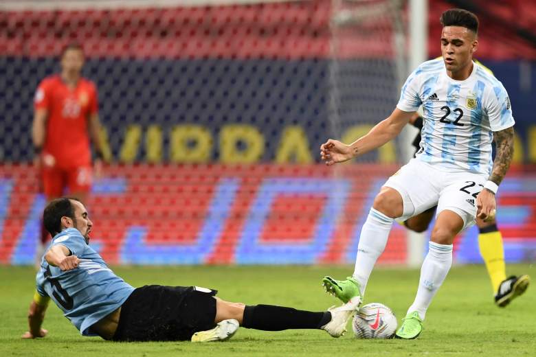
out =
<svg viewBox="0 0 536 357"><path fill-rule="evenodd" d="M357 246L357 256L355 257L355 270L352 275L361 286L361 297L365 294L368 277L372 273L376 260L386 249L392 222L392 218L371 208L367 220L363 224Z"/></svg>

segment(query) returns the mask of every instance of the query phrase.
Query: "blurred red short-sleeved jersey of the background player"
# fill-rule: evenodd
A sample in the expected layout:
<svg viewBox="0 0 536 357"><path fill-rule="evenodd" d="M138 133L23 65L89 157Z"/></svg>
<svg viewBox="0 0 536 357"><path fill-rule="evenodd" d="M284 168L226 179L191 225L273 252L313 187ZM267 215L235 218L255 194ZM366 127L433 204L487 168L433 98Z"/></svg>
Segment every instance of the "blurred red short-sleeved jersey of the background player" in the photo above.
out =
<svg viewBox="0 0 536 357"><path fill-rule="evenodd" d="M70 89L59 75L49 76L37 88L34 108L48 112L43 154L54 157L54 166L90 165L89 115L98 113L95 84L80 78Z"/></svg>

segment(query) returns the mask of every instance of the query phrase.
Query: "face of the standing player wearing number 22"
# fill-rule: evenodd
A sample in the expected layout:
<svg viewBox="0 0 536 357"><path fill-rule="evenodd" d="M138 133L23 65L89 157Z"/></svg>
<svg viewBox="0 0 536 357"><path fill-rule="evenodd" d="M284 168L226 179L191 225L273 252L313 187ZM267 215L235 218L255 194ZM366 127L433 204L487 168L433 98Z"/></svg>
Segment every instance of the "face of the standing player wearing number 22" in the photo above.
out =
<svg viewBox="0 0 536 357"><path fill-rule="evenodd" d="M476 34L466 27L445 26L441 32L441 54L447 71L458 72L470 65L478 47Z"/></svg>

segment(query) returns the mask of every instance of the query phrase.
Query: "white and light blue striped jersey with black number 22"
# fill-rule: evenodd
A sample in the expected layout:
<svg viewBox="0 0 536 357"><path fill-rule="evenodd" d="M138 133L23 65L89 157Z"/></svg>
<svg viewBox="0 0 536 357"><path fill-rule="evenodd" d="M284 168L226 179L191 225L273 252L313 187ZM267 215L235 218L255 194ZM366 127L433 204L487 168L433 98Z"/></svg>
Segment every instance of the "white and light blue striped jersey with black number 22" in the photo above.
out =
<svg viewBox="0 0 536 357"><path fill-rule="evenodd" d="M421 104L424 125L416 157L491 174L493 132L515 124L502 83L475 62L469 78L453 80L442 58L429 60L407 78L397 108L411 112Z"/></svg>

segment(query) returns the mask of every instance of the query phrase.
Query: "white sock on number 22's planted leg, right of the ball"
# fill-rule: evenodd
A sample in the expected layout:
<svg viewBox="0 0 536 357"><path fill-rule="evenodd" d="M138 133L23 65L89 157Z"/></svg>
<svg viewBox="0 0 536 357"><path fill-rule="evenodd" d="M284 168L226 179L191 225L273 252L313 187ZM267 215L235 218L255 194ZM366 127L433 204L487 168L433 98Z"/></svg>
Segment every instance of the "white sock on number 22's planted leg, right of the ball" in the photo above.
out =
<svg viewBox="0 0 536 357"><path fill-rule="evenodd" d="M418 283L417 296L407 313L418 312L421 319L425 319L426 310L434 295L452 265L452 244L437 244L429 242L428 254L425 257L423 266L421 266L421 279Z"/></svg>

